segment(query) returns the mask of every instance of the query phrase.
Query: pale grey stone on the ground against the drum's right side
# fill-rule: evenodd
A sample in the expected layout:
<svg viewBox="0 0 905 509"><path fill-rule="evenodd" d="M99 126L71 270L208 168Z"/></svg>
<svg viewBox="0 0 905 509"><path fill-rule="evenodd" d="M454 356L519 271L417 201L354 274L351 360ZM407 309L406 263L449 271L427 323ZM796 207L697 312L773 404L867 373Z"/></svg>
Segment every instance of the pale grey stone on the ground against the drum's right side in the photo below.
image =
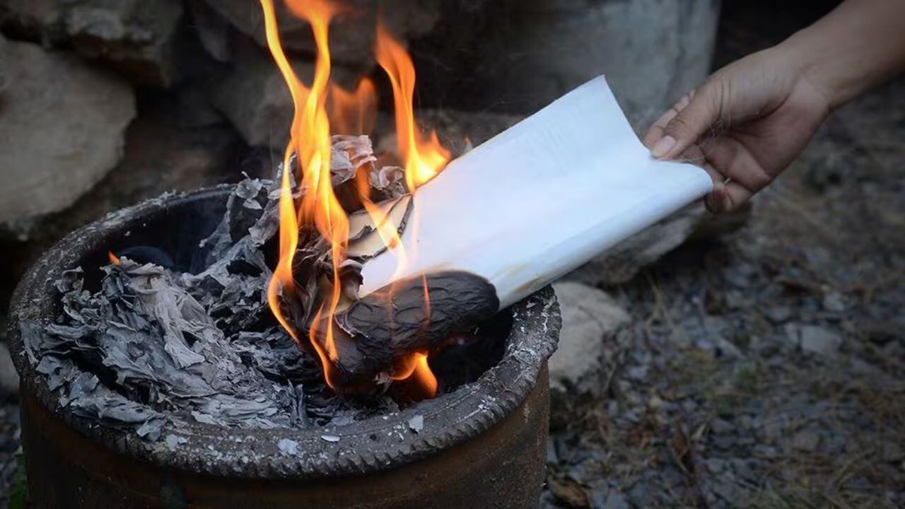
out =
<svg viewBox="0 0 905 509"><path fill-rule="evenodd" d="M591 389L586 379L601 368L604 341L629 322L629 314L612 297L582 283L554 283L563 328L559 348L550 357L550 385L556 389Z"/></svg>

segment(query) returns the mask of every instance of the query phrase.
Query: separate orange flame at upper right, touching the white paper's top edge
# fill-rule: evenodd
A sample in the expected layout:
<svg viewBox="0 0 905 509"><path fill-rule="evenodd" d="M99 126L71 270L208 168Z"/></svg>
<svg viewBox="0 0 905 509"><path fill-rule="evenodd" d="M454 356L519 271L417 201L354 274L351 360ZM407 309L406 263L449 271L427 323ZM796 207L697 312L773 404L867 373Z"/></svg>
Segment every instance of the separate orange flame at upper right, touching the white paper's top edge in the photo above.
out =
<svg viewBox="0 0 905 509"><path fill-rule="evenodd" d="M414 122L414 64L405 48L382 22L377 23L375 54L393 87L396 143L405 162L405 184L410 191L433 178L450 160L450 152L437 139L436 131L425 138Z"/></svg>

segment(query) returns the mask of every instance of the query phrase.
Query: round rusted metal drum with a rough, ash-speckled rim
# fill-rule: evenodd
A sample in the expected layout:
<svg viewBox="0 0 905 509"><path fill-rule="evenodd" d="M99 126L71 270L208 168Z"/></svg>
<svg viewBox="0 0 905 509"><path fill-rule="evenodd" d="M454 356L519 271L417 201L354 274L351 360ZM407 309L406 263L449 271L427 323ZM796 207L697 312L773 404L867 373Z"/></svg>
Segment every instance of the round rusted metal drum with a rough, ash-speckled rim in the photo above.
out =
<svg viewBox="0 0 905 509"><path fill-rule="evenodd" d="M546 455L546 364L560 325L549 288L510 308L505 354L476 382L347 426L237 430L187 423L165 431L180 439L168 446L99 427L61 406L22 354L17 323L52 321L59 312L56 274L100 264L126 232L137 242L168 245L177 264L190 263L178 246L206 234L196 231L197 218L222 214L228 192L171 196L114 213L67 236L24 277L10 338L36 506L535 506ZM298 454L281 452L284 438L298 443Z"/></svg>

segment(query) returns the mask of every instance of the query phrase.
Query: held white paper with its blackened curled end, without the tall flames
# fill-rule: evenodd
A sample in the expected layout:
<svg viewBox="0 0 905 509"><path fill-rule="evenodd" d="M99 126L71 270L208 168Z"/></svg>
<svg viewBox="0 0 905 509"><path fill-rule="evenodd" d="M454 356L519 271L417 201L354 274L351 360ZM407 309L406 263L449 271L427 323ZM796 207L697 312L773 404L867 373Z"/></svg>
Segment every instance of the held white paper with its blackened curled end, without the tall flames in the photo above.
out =
<svg viewBox="0 0 905 509"><path fill-rule="evenodd" d="M395 378L413 353L538 291L710 191L655 160L603 77L554 101L414 189L395 242L360 256L357 299L333 319L337 384ZM397 210L402 198L387 210ZM392 214L386 214L392 218ZM387 237L387 235L382 235ZM322 328L324 325L320 325ZM316 336L316 339L319 336ZM322 340L321 340L322 341Z"/></svg>

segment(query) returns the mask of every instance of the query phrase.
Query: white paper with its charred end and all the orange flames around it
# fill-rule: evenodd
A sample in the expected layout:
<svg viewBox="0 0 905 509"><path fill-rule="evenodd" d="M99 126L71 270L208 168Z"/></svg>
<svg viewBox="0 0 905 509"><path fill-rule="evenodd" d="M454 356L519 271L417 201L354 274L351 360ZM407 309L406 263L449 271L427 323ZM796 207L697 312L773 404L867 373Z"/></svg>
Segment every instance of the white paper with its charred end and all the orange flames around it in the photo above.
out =
<svg viewBox="0 0 905 509"><path fill-rule="evenodd" d="M392 168L365 170L370 177L356 178L359 210L350 215L331 169L351 168L352 159L331 161L331 133L338 132L331 125L367 124L374 93L369 82L355 92L329 82L329 24L342 7L287 1L310 23L317 43L307 87L282 51L271 0L261 5L267 42L295 108L281 174L280 259L268 302L300 347L317 353L333 389L367 391L410 379L433 396L427 359L450 333L710 189L700 168L650 158L603 78L447 167L449 151L415 125L414 65L378 24L375 58L393 90L405 187L399 173L391 178ZM351 114L330 118L342 111ZM334 141L333 154L335 147ZM371 195L375 175L394 190L389 201Z"/></svg>

